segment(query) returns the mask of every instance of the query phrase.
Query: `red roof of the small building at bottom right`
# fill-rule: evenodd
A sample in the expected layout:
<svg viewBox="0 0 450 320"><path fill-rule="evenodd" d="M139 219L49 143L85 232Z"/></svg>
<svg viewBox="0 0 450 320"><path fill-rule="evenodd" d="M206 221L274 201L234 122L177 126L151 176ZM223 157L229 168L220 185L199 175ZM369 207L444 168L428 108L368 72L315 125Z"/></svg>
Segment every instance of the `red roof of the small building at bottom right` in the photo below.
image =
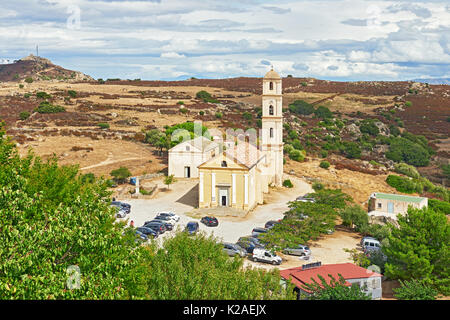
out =
<svg viewBox="0 0 450 320"><path fill-rule="evenodd" d="M381 277L382 275L376 272L373 272L368 269L364 269L362 267L358 267L353 263L340 263L340 264L326 264L320 267L302 270L301 267L291 268L286 270L281 270L280 275L286 279L291 279L292 283L297 288L305 290L303 285L305 283L313 283L312 279L317 281L317 283L321 283L318 275L322 276L326 282L329 284L331 278L328 276L331 274L336 280L339 280L339 274L341 274L345 280L349 279L361 279L361 278L370 278L370 277ZM347 286L350 286L351 283L345 283ZM305 290L308 291L308 290Z"/></svg>

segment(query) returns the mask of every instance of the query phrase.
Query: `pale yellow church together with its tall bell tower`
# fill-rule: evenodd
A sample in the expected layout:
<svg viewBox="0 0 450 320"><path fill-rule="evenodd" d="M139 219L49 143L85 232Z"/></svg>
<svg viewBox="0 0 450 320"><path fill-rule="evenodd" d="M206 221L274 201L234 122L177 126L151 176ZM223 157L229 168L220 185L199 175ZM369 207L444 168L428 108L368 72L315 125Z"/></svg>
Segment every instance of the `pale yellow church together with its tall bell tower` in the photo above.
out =
<svg viewBox="0 0 450 320"><path fill-rule="evenodd" d="M263 203L263 194L269 192L269 186L282 185L282 81L273 69L263 78L262 129L259 131L259 146L245 139L226 141L222 152L196 166L199 208L230 207L249 211ZM169 167L171 165L189 166L171 159L169 150ZM169 168L169 172L175 171Z"/></svg>

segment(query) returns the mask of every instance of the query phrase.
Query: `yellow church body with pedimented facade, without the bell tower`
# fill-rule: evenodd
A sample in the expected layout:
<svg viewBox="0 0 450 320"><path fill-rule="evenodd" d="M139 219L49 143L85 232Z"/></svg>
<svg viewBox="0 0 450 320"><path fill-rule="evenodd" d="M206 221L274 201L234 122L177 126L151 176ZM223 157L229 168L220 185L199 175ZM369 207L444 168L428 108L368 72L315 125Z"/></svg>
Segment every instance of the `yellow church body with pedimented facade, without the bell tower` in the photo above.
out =
<svg viewBox="0 0 450 320"><path fill-rule="evenodd" d="M263 203L266 154L248 142L227 148L199 167L199 208L251 210Z"/></svg>

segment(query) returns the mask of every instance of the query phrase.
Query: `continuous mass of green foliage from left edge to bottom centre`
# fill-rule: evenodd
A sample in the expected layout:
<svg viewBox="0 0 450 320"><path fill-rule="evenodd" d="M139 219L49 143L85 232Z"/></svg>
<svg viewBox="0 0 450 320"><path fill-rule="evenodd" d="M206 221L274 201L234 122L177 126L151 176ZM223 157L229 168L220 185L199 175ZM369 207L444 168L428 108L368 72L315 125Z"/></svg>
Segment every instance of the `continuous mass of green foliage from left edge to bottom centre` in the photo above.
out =
<svg viewBox="0 0 450 320"><path fill-rule="evenodd" d="M177 232L139 245L103 180L43 163L0 130L1 299L293 299L277 270L243 268L216 239ZM68 275L69 266L80 270Z"/></svg>

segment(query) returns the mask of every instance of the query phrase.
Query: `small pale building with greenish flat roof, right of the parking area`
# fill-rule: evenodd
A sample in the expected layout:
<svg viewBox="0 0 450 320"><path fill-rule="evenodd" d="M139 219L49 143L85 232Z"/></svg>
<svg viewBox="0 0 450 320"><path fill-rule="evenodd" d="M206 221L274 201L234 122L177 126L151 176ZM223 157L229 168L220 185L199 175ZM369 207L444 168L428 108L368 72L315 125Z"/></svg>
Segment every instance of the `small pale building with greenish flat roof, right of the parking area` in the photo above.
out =
<svg viewBox="0 0 450 320"><path fill-rule="evenodd" d="M375 192L369 197L369 216L384 216L396 220L406 214L408 207L421 209L428 206L428 198Z"/></svg>

